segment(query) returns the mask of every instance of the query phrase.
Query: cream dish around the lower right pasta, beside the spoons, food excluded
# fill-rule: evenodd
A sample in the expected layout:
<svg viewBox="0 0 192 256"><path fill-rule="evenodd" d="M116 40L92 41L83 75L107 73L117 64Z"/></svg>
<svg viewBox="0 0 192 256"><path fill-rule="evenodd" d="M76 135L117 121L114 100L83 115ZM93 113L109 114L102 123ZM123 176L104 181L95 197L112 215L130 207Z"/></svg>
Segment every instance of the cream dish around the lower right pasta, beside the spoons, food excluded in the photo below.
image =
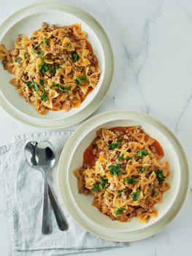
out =
<svg viewBox="0 0 192 256"><path fill-rule="evenodd" d="M96 137L96 129L140 124L149 135L157 139L164 148L164 159L169 161L172 188L164 193L164 203L157 204L158 217L148 223L134 218L131 222L112 221L101 214L91 203L92 196L80 195L77 178L72 170L82 165L85 148ZM182 170L182 175L181 175ZM134 241L154 233L166 226L180 210L188 190L188 163L182 146L174 134L154 118L128 110L102 113L82 124L69 138L58 164L58 184L66 208L72 217L89 232L113 241Z"/></svg>

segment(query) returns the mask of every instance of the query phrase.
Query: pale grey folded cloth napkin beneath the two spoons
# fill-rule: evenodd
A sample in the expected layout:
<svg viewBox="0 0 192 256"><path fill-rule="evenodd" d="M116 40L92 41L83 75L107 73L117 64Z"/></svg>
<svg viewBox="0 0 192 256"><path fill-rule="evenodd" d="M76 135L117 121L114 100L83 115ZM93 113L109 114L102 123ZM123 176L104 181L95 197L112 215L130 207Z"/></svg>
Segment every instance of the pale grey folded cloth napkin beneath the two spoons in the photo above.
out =
<svg viewBox="0 0 192 256"><path fill-rule="evenodd" d="M66 255L77 252L93 252L123 243L105 241L86 232L69 216L62 203L57 185L58 158L72 132L42 132L19 135L15 141L0 148L0 177L7 208L7 220L12 238L13 255ZM42 174L28 166L23 149L28 141L49 140L55 148L56 162L48 174L59 205L64 211L69 230L58 229L50 208L53 232L42 235Z"/></svg>

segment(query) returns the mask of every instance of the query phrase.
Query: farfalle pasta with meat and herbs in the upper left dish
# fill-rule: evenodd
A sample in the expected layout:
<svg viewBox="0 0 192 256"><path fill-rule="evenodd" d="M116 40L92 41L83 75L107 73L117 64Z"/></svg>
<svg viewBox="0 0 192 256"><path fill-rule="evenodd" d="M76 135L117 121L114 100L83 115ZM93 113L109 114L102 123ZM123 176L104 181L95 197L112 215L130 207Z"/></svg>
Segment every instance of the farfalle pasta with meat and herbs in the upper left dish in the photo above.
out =
<svg viewBox="0 0 192 256"><path fill-rule="evenodd" d="M15 48L0 45L11 83L38 113L79 108L99 80L98 60L80 24L48 26L31 38L19 35Z"/></svg>

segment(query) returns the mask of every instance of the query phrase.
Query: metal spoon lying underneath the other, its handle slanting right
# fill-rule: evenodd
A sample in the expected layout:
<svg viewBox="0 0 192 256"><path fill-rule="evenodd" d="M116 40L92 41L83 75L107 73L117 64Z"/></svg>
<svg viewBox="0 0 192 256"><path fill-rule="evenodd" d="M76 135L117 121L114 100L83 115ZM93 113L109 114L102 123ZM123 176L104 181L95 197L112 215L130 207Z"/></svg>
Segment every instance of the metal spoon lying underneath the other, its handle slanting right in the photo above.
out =
<svg viewBox="0 0 192 256"><path fill-rule="evenodd" d="M39 167L38 167L36 159L35 159L35 154L34 154L36 146L37 146L36 141L28 142L24 148L24 153L25 153L25 157L26 157L26 161L28 162L28 165L33 167L35 170L39 170ZM62 231L67 230L68 224L66 222L64 214L61 211L61 208L58 206L58 203L55 200L54 194L53 194L52 190L50 189L49 184L48 184L48 194L50 197L50 202L53 207L55 219L57 221L59 229Z"/></svg>

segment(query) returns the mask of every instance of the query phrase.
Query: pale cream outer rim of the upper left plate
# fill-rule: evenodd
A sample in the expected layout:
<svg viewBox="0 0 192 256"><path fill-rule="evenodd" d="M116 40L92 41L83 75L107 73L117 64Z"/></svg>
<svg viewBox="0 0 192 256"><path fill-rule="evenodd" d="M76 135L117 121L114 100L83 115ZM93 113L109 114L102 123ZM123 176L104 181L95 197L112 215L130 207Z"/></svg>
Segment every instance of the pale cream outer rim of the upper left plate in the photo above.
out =
<svg viewBox="0 0 192 256"><path fill-rule="evenodd" d="M38 4L31 4L27 7L24 7L23 9L18 10L17 12L10 15L0 26L0 37L2 34L4 34L7 29L9 29L9 26L12 25L12 23L15 23L15 20L18 20L20 18L20 15L23 15L25 12L29 12L43 7L61 7L61 10L65 10L69 13L72 13L74 15L79 16L82 18L82 20L85 21L85 23L91 23L91 28L96 31L96 34L99 37L99 40L101 42L101 45L104 49L104 59L105 59L105 65L106 65L106 71L104 75L104 83L101 86L101 89L99 90L96 97L93 99L93 102L91 102L90 105L88 105L88 108L84 108L79 113L74 114L73 116L66 117L64 119L58 120L58 121L45 121L45 120L35 120L34 118L26 118L25 115L22 115L19 113L19 111L15 110L9 102L7 102L6 99L0 94L0 106L3 108L7 113L9 113L10 116L13 118L16 118L18 121L21 121L23 123L35 126L35 127L41 127L41 128L47 128L47 129L59 129L64 127L69 127L74 124L79 123L80 121L84 120L88 116L93 113L93 111L96 110L96 108L99 108L99 105L104 101L104 98L107 95L107 91L110 89L110 84L112 82L112 75L114 70L114 60L113 60L113 54L112 54L112 48L110 45L110 41L107 37L107 34L105 33L104 29L101 27L99 22L93 18L88 12L85 12L84 10L80 9L80 7L74 6L69 3L61 2L61 1L44 1L42 3ZM29 14L28 13L28 14Z"/></svg>

